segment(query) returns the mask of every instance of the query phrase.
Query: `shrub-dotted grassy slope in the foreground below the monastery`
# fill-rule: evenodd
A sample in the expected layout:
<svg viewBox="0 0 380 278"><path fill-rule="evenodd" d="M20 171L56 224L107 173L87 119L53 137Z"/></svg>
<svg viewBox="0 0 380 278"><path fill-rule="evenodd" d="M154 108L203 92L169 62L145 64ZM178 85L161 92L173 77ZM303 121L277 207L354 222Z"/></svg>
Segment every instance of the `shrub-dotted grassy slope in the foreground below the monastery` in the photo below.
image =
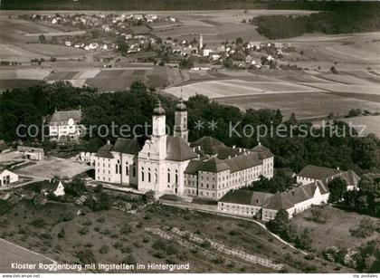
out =
<svg viewBox="0 0 380 278"><path fill-rule="evenodd" d="M78 209L69 203L34 206L23 201L7 215L0 216L1 236L60 263L78 264L78 254L86 252L103 264L190 262L192 273L353 272L344 267L336 268L337 264L318 257L309 261L304 254L278 242L261 226L244 220L162 205L139 208L136 214L110 209L97 213L86 210L85 215L75 216ZM28 236L24 234L26 224L32 224L28 225ZM62 228L64 235L58 236ZM183 233L190 236L182 236ZM204 242L193 241L194 235ZM280 269L223 254L205 244L208 241L260 256L281 265Z"/></svg>

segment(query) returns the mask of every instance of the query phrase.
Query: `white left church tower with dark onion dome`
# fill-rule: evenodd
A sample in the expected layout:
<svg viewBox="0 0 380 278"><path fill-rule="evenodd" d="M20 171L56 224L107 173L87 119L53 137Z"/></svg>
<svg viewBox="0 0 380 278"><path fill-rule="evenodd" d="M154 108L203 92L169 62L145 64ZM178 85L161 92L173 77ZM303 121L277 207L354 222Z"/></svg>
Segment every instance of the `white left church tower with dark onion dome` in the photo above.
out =
<svg viewBox="0 0 380 278"><path fill-rule="evenodd" d="M161 105L161 101L157 101L157 106L153 110L152 119L152 141L157 144L158 159L166 157L166 117L165 109Z"/></svg>

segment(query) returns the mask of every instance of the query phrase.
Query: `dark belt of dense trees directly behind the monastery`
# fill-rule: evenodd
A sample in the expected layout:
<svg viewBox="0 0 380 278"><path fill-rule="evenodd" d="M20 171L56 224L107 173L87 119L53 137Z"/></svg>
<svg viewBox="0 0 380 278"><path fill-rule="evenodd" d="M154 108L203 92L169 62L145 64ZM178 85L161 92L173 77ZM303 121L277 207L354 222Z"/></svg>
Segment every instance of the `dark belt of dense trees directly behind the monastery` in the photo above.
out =
<svg viewBox="0 0 380 278"><path fill-rule="evenodd" d="M154 89L147 89L142 82L135 82L129 91L113 93L99 93L89 87L74 88L70 83L53 83L34 85L29 88L5 91L0 95L0 139L5 139L9 144L17 143L20 138L15 132L19 124L26 126L35 124L41 126L43 117L51 115L55 108L58 110L78 109L81 106L83 112L82 123L86 126L107 125L112 122L116 125L128 124L133 127L145 122L151 123L152 110L159 99L166 109L166 124L169 127L174 123L174 109L177 100L157 93ZM267 146L275 155L276 168L290 168L298 172L308 164L325 166L328 168L353 169L358 174L365 172L378 172L379 161L376 152L380 147L380 139L373 135L356 137L347 135L342 137L333 132L331 136L300 136L297 129L299 122L297 115L290 119L282 119L280 110L247 110L242 113L236 107L223 106L216 101L210 101L207 97L196 95L185 101L188 108L188 129L190 141L209 135L223 141L227 146L252 148L256 146L255 136L238 136L242 129L250 125L285 126L291 125L293 134L285 136L268 134L261 138L261 144ZM198 120L209 122L216 121L217 129L211 129L205 125L204 129L195 129ZM237 123L240 123L237 125ZM311 126L311 123L302 122ZM236 132L230 134L231 125L236 126ZM333 126L314 129L314 134L329 134L330 129L344 129L347 124L336 121ZM43 132L43 131L41 131ZM143 134L145 129L140 130ZM119 130L116 130L119 134ZM81 149L97 151L107 139L112 142L116 138L102 138L94 134L91 138L87 135L82 139ZM23 138L24 141L35 144L48 144L41 142L41 136L37 138Z"/></svg>

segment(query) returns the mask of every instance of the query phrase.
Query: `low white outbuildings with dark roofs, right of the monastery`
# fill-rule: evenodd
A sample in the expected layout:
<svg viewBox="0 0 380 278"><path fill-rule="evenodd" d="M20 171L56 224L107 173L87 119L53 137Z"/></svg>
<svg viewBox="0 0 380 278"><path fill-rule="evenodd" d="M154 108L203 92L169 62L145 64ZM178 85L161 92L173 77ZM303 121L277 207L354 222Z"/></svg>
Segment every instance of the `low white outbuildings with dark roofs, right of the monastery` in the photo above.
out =
<svg viewBox="0 0 380 278"><path fill-rule="evenodd" d="M327 204L328 182L337 177L346 180L347 190L356 188L360 179L352 170L343 172L338 169L308 165L297 175L299 187L274 195L235 190L218 201L218 210L238 216L255 216L261 210L261 219L269 221L280 209L286 209L292 217L310 206Z"/></svg>

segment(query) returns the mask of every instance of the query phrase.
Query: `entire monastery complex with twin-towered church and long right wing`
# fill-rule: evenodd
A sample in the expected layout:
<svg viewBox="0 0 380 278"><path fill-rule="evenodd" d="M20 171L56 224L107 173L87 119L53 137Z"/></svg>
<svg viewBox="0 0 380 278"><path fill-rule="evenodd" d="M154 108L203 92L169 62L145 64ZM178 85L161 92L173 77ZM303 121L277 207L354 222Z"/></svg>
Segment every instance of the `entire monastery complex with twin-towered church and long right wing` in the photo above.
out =
<svg viewBox="0 0 380 278"><path fill-rule="evenodd" d="M176 105L172 135L166 134L166 110L158 101L148 139L119 138L101 147L95 159L95 179L137 186L157 196L176 194L218 200L228 191L273 177L273 155L259 143L253 149L227 147L212 137L188 141L187 108Z"/></svg>

